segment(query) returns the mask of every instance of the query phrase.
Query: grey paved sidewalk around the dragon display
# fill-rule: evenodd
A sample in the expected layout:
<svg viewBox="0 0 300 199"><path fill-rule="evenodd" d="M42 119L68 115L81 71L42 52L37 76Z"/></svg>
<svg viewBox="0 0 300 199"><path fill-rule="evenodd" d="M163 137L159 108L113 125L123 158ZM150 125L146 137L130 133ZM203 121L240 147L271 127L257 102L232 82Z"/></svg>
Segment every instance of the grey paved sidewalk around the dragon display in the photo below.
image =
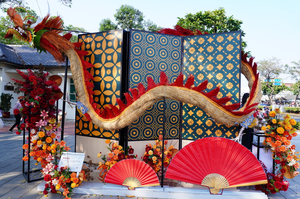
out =
<svg viewBox="0 0 300 199"><path fill-rule="evenodd" d="M16 135L8 132L8 129L13 125L13 120L4 121L4 127L1 131L5 133L0 134L0 199L41 199L44 198L42 192L37 191L37 186L43 180L27 183L22 174L22 142L23 134ZM65 136L64 141L74 151L75 149L75 121L65 122ZM17 128L14 129L16 131ZM27 135L26 135L27 136ZM300 135L293 138L293 144L297 146L296 151L300 151ZM41 176L41 175L38 175ZM289 189L286 192L280 192L268 195L270 199L300 199L300 177L288 180L290 183ZM221 198L221 196L219 196ZM60 194L49 194L49 199L62 199ZM86 195L73 194L72 199L89 198L89 199L117 199L117 196L103 196L103 195ZM122 197L127 198L127 197ZM137 199L134 197L133 199ZM142 198L140 198L142 199ZM151 199L151 198L146 198ZM153 199L153 198L152 198Z"/></svg>

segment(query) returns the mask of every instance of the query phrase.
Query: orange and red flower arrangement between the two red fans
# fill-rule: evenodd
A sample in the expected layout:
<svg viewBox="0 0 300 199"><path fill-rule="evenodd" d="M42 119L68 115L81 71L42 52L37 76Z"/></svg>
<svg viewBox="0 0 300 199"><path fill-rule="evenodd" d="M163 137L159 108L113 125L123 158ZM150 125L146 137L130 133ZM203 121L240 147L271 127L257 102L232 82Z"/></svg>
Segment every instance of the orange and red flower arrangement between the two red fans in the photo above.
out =
<svg viewBox="0 0 300 199"><path fill-rule="evenodd" d="M142 157L143 161L146 162L149 166L153 168L155 173L158 174L158 176L161 176L161 158L162 154L164 153L164 171L167 171L167 167L169 166L169 163L172 159L172 149L174 148L173 145L170 145L170 147L167 147L168 140L164 141L164 150L162 149L162 139L163 135L160 134L158 136L158 140L155 140L155 145L146 145L146 152L144 154L144 157ZM164 172L165 174L166 172Z"/></svg>

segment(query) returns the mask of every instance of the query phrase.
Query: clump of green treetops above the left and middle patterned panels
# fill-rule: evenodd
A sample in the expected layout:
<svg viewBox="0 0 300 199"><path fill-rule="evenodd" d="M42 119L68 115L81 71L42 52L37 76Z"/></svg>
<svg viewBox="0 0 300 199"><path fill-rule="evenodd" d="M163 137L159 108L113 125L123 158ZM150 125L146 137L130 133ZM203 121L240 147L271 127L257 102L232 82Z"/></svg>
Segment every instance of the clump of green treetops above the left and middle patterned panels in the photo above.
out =
<svg viewBox="0 0 300 199"><path fill-rule="evenodd" d="M130 5L122 5L119 9L116 10L114 14L117 24L113 23L110 19L102 19L99 23L99 31L110 31L120 28L129 30L129 29L138 29L142 31L151 31L156 32L161 29L160 26L157 26L154 22L149 19L146 21L144 19L143 12L138 9L135 9Z"/></svg>

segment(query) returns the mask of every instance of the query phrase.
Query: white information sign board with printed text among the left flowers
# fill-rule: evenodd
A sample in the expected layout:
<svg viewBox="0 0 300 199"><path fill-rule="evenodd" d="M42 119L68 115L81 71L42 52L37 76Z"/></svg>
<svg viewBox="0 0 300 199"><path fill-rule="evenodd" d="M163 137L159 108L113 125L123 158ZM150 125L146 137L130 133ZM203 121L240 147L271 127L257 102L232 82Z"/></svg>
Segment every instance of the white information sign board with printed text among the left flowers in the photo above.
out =
<svg viewBox="0 0 300 199"><path fill-rule="evenodd" d="M83 164L85 154L73 153L73 152L62 152L58 167L64 167L68 165L70 171L80 172Z"/></svg>

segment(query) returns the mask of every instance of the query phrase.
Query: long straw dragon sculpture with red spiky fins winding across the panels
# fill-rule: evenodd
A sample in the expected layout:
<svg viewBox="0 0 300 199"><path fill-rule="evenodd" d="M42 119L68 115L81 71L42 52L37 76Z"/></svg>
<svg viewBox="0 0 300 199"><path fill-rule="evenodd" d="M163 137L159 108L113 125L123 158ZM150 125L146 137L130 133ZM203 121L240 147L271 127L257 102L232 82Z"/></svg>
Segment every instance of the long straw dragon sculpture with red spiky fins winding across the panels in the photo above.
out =
<svg viewBox="0 0 300 199"><path fill-rule="evenodd" d="M28 41L38 51L48 51L58 63L63 63L65 56L69 58L74 84L81 104L77 108L98 127L107 130L116 130L131 124L155 102L164 97L200 107L218 123L232 126L236 123L242 123L255 112L256 105L262 95L256 63L253 63L253 58L247 60L247 54L242 54L241 73L248 80L250 97L244 107L240 109L239 103L225 105L231 99L230 97L216 98L219 87L205 92L207 80L194 86L192 75L187 78L185 84L183 83L183 75L179 75L175 82L169 83L163 72L161 72L160 83L155 83L152 78L148 78L147 88L139 84L136 89L129 89L131 95L129 93L124 94L126 104L121 99L117 99L119 107L110 105L110 108L98 109L93 99L94 92L92 89L94 86L90 82L93 77L87 71L93 65L84 60L87 52L78 49L81 43L71 43L69 41L70 33L60 36L58 34L60 31L55 30L62 29L61 18L57 16L50 19L48 14L39 23L24 22L25 19L22 20L15 8L12 7L8 9L7 14L16 26L8 29L5 38L16 35L17 38ZM189 31L188 34L201 33Z"/></svg>

